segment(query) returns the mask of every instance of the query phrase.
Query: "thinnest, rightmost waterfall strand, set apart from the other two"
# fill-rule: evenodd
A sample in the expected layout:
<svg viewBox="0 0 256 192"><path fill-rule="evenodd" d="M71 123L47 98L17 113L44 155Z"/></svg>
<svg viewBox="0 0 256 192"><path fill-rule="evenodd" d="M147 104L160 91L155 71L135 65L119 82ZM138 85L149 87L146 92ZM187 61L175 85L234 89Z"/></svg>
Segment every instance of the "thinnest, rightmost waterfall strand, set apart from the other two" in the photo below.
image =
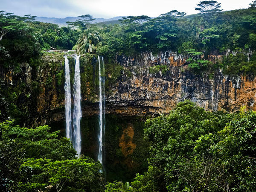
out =
<svg viewBox="0 0 256 192"><path fill-rule="evenodd" d="M98 160L102 164L103 167L103 136L105 132L105 79L102 78L102 71L104 72L104 61L102 57L102 67L100 64L100 57L98 56L98 63L99 63L99 152L98 152ZM102 88L103 87L103 88ZM103 90L103 91L102 91ZM103 93L103 96L102 96ZM103 101L102 101L103 98ZM104 115L103 115L104 113ZM102 172L102 170L100 170Z"/></svg>

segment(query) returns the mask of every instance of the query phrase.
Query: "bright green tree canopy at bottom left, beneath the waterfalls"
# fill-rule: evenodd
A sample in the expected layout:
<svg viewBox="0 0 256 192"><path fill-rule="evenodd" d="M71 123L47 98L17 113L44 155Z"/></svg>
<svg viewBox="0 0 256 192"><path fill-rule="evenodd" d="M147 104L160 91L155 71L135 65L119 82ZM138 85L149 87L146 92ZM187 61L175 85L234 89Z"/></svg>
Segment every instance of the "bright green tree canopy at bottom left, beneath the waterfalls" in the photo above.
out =
<svg viewBox="0 0 256 192"><path fill-rule="evenodd" d="M103 191L102 166L90 157L74 160L52 161L47 158L29 158L21 165L28 170L29 182L24 183L29 191L54 186L60 191ZM26 176L26 175L25 175Z"/></svg>

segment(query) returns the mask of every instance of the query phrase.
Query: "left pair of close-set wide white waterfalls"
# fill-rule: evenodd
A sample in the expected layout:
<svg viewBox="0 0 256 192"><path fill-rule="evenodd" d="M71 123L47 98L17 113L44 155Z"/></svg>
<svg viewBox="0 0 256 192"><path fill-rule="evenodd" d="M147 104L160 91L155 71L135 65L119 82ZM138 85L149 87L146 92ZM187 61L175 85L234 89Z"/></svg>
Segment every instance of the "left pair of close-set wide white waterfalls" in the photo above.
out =
<svg viewBox="0 0 256 192"><path fill-rule="evenodd" d="M70 68L67 56L65 58L65 116L66 116L66 137L72 140L73 147L75 148L78 155L81 154L81 131L80 121L82 117L81 111L81 78L80 78L80 55L74 55L75 64L75 75L73 84L73 133L71 127L71 88L70 88Z"/></svg>

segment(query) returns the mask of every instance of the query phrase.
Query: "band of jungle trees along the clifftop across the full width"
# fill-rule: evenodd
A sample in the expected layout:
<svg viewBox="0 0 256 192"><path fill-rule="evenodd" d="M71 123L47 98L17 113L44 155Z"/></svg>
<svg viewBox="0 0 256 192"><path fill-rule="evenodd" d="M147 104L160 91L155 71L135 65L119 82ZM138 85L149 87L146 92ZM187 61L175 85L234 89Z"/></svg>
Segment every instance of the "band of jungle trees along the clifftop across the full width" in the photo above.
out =
<svg viewBox="0 0 256 192"><path fill-rule="evenodd" d="M206 1L211 2L211 1ZM215 1L213 1L215 2ZM228 50L248 52L256 49L256 8L221 12L218 3L198 4L197 15L177 10L151 18L145 15L123 17L121 24L97 26L91 15L81 15L68 27L34 21L35 16L20 17L0 12L0 61L19 70L21 62L37 63L42 50L77 49L113 57L172 50L189 55L192 70L217 66L204 62L210 54L223 55ZM231 52L232 53L232 52ZM201 57L204 55L204 57ZM255 55L251 61L229 54L218 64L227 73L255 73ZM203 60L202 60L203 58Z"/></svg>

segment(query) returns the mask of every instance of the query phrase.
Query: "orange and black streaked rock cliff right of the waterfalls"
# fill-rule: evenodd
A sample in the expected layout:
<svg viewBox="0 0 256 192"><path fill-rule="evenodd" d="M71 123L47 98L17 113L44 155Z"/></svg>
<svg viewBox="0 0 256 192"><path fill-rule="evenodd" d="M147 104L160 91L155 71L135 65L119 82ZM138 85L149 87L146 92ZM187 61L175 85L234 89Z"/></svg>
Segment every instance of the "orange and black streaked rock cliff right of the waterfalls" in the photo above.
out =
<svg viewBox="0 0 256 192"><path fill-rule="evenodd" d="M221 55L210 55L215 62ZM221 70L209 77L193 75L186 64L186 56L162 52L153 56L144 53L141 58L117 56L116 61L130 70L111 87L107 95L108 111L111 113L158 114L172 110L178 102L191 99L208 111L238 111L245 105L256 110L256 78L254 76L224 76ZM151 74L149 68L167 65L169 70Z"/></svg>

